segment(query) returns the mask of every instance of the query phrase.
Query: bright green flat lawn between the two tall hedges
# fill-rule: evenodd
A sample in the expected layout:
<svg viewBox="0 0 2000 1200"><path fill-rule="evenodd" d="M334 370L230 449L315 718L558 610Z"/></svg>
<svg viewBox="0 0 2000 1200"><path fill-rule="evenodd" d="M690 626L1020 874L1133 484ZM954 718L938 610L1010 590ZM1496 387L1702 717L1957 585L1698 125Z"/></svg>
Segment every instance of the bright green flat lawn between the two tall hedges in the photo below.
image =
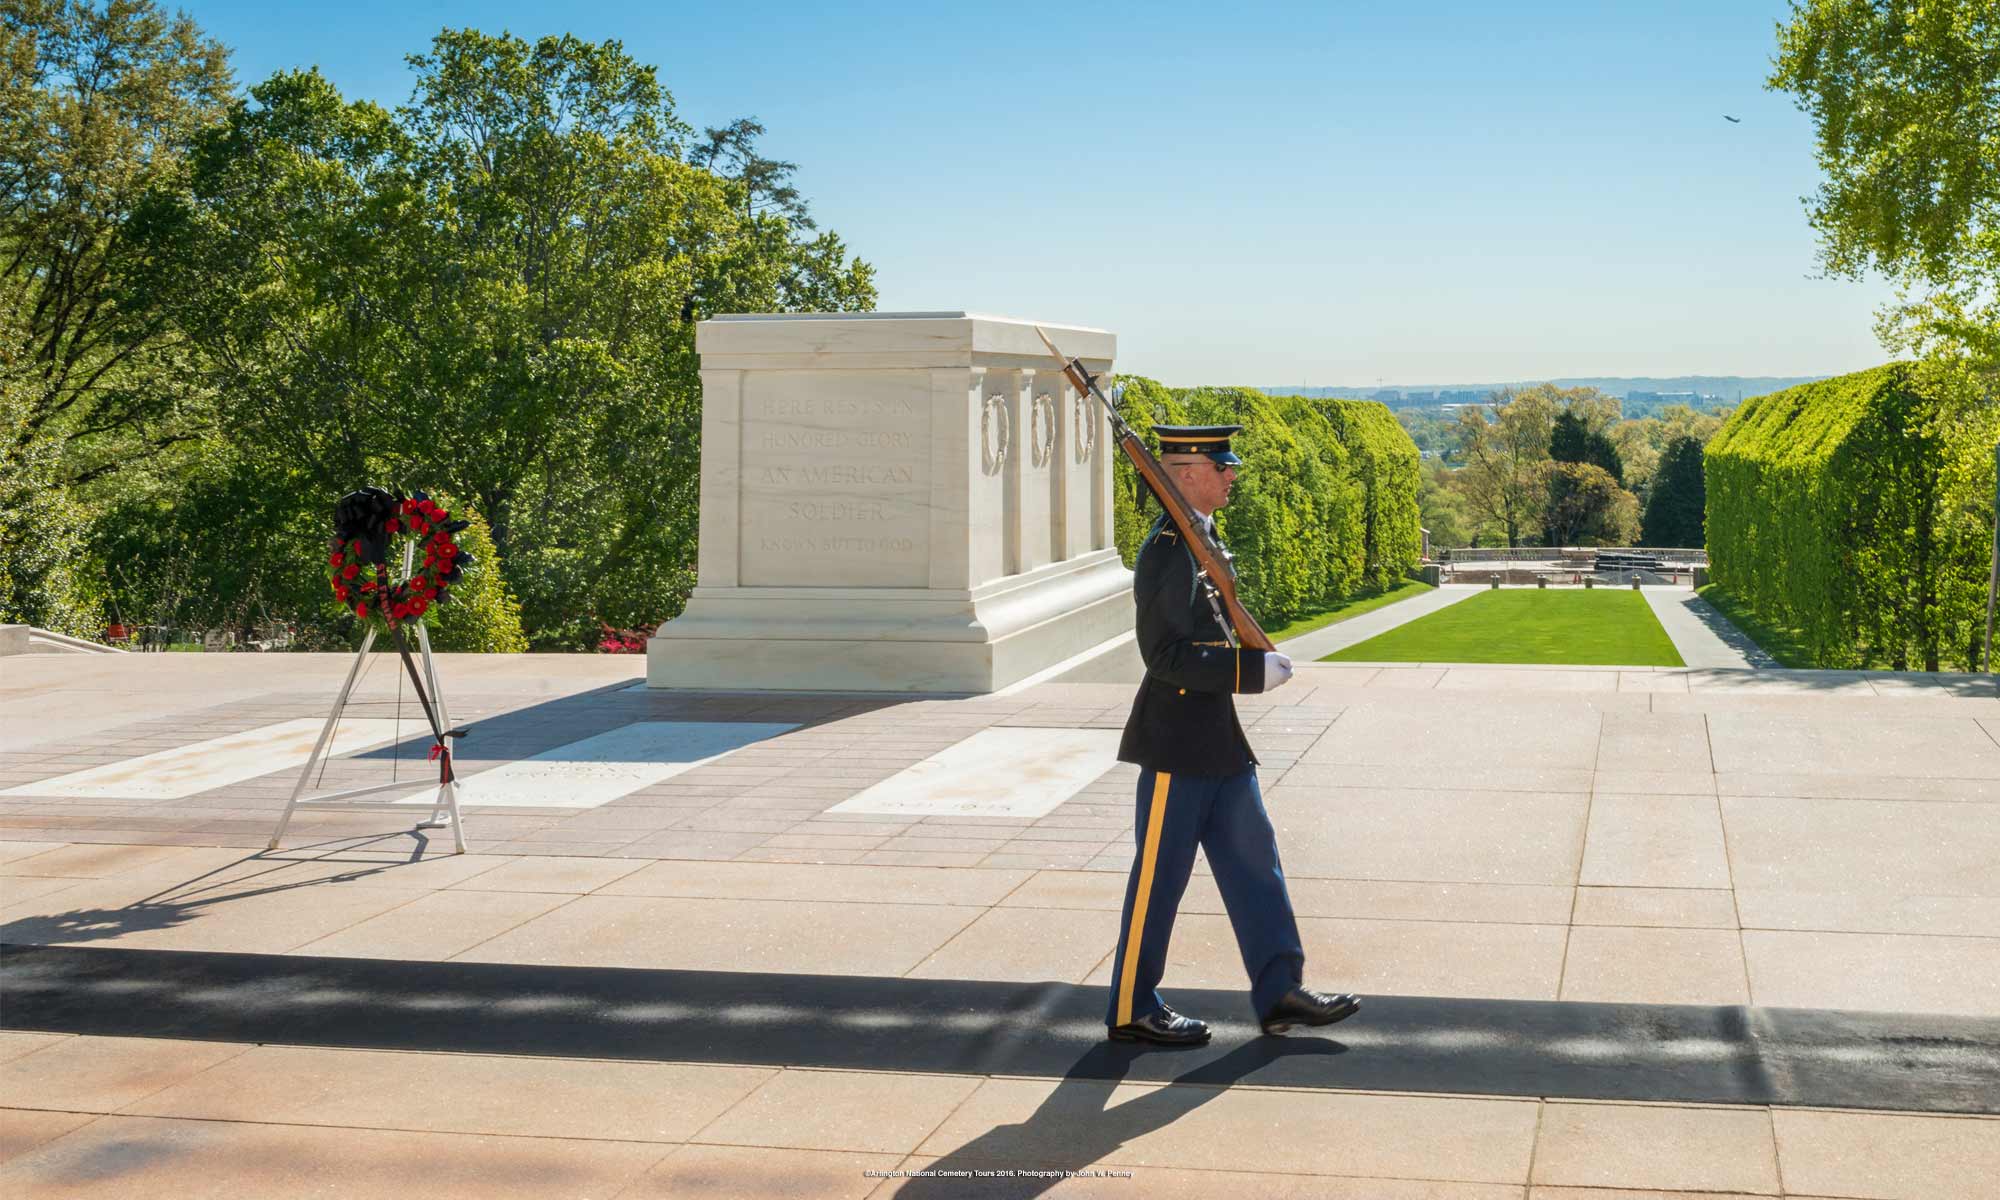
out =
<svg viewBox="0 0 2000 1200"><path fill-rule="evenodd" d="M1646 598L1610 588L1480 592L1320 662L1686 666Z"/></svg>

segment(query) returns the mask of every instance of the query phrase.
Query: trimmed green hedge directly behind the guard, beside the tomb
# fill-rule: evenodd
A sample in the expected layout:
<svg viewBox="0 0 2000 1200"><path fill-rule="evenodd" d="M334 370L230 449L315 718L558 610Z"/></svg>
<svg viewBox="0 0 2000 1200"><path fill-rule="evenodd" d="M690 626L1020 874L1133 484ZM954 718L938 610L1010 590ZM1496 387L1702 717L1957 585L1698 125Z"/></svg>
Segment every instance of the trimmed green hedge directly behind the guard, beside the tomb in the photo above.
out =
<svg viewBox="0 0 2000 1200"><path fill-rule="evenodd" d="M1368 400L1268 396L1252 388L1166 388L1126 376L1124 410L1158 454L1154 424L1240 424L1244 460L1216 524L1238 590L1266 628L1384 588L1418 564L1416 444ZM1118 550L1130 566L1158 516L1116 456Z"/></svg>

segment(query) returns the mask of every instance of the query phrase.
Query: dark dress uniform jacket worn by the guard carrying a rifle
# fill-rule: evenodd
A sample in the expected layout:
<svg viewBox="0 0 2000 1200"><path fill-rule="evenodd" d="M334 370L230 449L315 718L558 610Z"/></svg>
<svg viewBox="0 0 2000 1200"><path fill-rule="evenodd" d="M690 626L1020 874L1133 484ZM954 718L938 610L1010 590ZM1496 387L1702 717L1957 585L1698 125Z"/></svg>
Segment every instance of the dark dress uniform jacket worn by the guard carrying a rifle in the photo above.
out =
<svg viewBox="0 0 2000 1200"><path fill-rule="evenodd" d="M1138 552L1132 596L1146 678L1132 700L1118 760L1188 776L1254 766L1232 696L1264 690L1264 652L1230 646L1194 578L1194 556L1166 514Z"/></svg>

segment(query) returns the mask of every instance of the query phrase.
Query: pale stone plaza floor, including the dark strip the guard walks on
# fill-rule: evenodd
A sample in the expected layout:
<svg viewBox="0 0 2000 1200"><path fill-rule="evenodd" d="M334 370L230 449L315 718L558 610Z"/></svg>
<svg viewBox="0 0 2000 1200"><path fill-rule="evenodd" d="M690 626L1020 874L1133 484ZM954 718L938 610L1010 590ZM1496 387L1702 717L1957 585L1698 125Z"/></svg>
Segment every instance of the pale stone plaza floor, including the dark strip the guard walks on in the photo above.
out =
<svg viewBox="0 0 2000 1200"><path fill-rule="evenodd" d="M992 766L1108 756L1128 684L702 696L632 690L638 660L444 656L474 852L308 812L264 854L298 760L206 748L324 714L344 660L188 658L0 664L10 1200L2000 1176L1990 676L1302 664L1240 710L1308 978L1368 1006L1254 1036L1196 874L1164 990L1216 1042L1146 1054L1096 1042L1132 768ZM356 716L394 704L376 668ZM604 750L638 726L742 740L660 774ZM134 766L156 754L182 758ZM920 764L952 810L870 810ZM422 744L324 786L390 770ZM480 806L508 770L544 804Z"/></svg>

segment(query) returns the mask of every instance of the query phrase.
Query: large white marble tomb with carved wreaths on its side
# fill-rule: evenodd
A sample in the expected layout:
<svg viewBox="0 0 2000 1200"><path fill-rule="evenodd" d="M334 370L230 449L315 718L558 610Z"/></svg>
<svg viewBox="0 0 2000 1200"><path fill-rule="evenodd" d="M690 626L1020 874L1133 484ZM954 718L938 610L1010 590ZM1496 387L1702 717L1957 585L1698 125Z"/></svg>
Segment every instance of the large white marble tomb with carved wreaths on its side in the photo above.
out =
<svg viewBox="0 0 2000 1200"><path fill-rule="evenodd" d="M1092 372L1116 338L1042 326ZM678 688L1002 688L1130 628L1102 410L1034 322L702 322L702 544Z"/></svg>

